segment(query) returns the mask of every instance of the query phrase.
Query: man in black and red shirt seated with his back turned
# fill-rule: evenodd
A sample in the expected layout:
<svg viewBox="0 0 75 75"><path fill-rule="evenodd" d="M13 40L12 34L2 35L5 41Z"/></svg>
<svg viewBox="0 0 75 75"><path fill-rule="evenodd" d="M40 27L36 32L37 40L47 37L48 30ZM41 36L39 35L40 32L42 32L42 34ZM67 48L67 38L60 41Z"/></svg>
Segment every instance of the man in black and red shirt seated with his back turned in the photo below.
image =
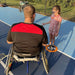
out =
<svg viewBox="0 0 75 75"><path fill-rule="evenodd" d="M43 26L34 23L35 8L27 5L24 8L24 22L11 26L7 43L13 44L12 51L20 57L36 57L48 43L48 38Z"/></svg>

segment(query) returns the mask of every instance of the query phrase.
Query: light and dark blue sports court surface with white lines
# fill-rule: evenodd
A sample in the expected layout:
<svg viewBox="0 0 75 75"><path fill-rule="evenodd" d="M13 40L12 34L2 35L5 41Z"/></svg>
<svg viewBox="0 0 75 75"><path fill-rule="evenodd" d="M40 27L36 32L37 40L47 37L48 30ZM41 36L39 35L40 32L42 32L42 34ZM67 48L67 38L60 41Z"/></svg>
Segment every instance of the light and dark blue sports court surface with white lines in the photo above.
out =
<svg viewBox="0 0 75 75"><path fill-rule="evenodd" d="M36 13L35 23L42 25L50 20L50 17ZM0 53L8 54L10 45L6 43L6 37L10 26L14 23L23 22L23 12L16 8L0 8ZM48 39L49 25L44 26ZM55 45L58 51L47 54L50 72L48 75L75 75L75 22L62 21L60 32L56 37ZM42 62L30 62L30 75L46 75ZM5 60L0 62L0 75L4 74ZM10 75L26 75L26 63L14 62Z"/></svg>

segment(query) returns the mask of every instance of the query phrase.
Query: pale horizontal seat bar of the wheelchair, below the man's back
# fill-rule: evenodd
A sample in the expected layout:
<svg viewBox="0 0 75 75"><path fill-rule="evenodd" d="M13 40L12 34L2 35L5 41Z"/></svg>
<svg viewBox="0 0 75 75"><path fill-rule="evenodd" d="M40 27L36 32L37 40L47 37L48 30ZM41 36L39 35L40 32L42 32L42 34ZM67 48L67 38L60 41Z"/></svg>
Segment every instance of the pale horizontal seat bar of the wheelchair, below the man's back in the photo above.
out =
<svg viewBox="0 0 75 75"><path fill-rule="evenodd" d="M31 56L31 54L13 52L13 58L18 62L39 61L39 55Z"/></svg>

